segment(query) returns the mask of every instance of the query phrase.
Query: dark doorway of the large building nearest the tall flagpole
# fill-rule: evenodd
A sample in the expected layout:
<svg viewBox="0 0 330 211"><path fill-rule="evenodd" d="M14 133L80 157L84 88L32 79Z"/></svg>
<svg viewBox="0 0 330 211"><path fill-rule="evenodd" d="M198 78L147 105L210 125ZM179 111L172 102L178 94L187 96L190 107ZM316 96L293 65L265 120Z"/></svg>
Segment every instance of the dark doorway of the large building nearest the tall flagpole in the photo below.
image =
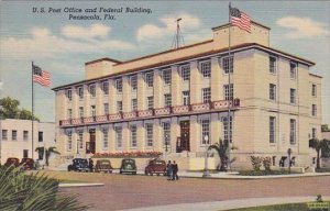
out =
<svg viewBox="0 0 330 211"><path fill-rule="evenodd" d="M190 151L190 121L180 121L180 136L177 138L176 152Z"/></svg>

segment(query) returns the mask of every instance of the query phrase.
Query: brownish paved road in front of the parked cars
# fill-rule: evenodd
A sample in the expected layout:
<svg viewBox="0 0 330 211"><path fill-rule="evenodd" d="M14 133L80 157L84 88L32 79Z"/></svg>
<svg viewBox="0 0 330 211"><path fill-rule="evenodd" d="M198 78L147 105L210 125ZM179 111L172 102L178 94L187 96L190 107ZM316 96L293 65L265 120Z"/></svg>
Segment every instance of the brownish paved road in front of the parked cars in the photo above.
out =
<svg viewBox="0 0 330 211"><path fill-rule="evenodd" d="M122 176L92 173L50 173L52 176L102 187L63 188L78 193L90 210L122 210L176 203L198 203L248 198L330 196L330 176L276 179L201 179L168 181L157 176Z"/></svg>

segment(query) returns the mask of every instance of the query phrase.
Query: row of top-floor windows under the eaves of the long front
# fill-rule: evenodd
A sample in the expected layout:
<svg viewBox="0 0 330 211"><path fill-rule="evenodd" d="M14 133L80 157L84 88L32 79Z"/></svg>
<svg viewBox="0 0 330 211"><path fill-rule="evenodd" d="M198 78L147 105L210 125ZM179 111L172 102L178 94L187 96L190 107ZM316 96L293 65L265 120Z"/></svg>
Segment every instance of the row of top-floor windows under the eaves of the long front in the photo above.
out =
<svg viewBox="0 0 330 211"><path fill-rule="evenodd" d="M223 71L224 74L233 73L233 57L224 57L222 58L223 63ZM210 60L204 60L200 62L199 64L200 67L200 73L204 78L210 78L211 77L211 62ZM183 81L189 81L190 80L190 65L183 65L179 67L180 68L180 76ZM164 81L164 85L170 85L172 84L172 69L164 69L162 70L162 78ZM144 74L144 80L147 87L153 87L154 86L154 73L153 71L147 71ZM122 93L122 78L116 79L116 89L118 93ZM130 86L132 91L138 90L138 76L133 75L130 76ZM101 81L101 90L103 91L105 95L109 95L109 82L108 81ZM88 91L91 97L96 97L96 85L91 84L88 87ZM77 93L80 99L84 98L84 88L78 87L77 88ZM73 91L72 89L66 90L66 97L70 101L73 99Z"/></svg>

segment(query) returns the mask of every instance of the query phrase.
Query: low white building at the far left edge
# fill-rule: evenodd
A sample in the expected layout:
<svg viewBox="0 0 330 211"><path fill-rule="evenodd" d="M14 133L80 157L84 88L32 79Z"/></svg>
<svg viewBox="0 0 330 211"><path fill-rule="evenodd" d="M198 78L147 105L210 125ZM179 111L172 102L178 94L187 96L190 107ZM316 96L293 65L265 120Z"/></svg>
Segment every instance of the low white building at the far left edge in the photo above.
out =
<svg viewBox="0 0 330 211"><path fill-rule="evenodd" d="M19 159L43 159L35 152L36 147L55 146L55 124L34 121L32 145L32 121L6 119L0 120L0 163L4 164L8 157Z"/></svg>

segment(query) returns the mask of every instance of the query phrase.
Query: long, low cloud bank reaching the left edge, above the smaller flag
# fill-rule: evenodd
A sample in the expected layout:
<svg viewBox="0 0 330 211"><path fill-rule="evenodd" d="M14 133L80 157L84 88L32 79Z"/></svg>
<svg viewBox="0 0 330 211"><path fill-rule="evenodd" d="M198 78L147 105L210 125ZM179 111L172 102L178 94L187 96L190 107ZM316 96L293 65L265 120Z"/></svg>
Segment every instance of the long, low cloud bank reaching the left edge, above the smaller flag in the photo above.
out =
<svg viewBox="0 0 330 211"><path fill-rule="evenodd" d="M56 55L63 54L74 54L74 53L101 53L114 51L125 51L133 49L135 46L131 43L109 40L107 34L110 29L106 29L101 25L94 25L84 30L84 27L69 27L64 26L63 30L68 33L79 30L81 32L91 31L91 35L87 40L73 40L73 37L80 38L77 34L66 34L70 38L63 37L61 35L54 35L46 27L35 27L30 32L30 37L7 37L0 40L0 56L2 58L44 58L54 57ZM74 30L75 29L75 30ZM103 38L95 38L102 36Z"/></svg>

